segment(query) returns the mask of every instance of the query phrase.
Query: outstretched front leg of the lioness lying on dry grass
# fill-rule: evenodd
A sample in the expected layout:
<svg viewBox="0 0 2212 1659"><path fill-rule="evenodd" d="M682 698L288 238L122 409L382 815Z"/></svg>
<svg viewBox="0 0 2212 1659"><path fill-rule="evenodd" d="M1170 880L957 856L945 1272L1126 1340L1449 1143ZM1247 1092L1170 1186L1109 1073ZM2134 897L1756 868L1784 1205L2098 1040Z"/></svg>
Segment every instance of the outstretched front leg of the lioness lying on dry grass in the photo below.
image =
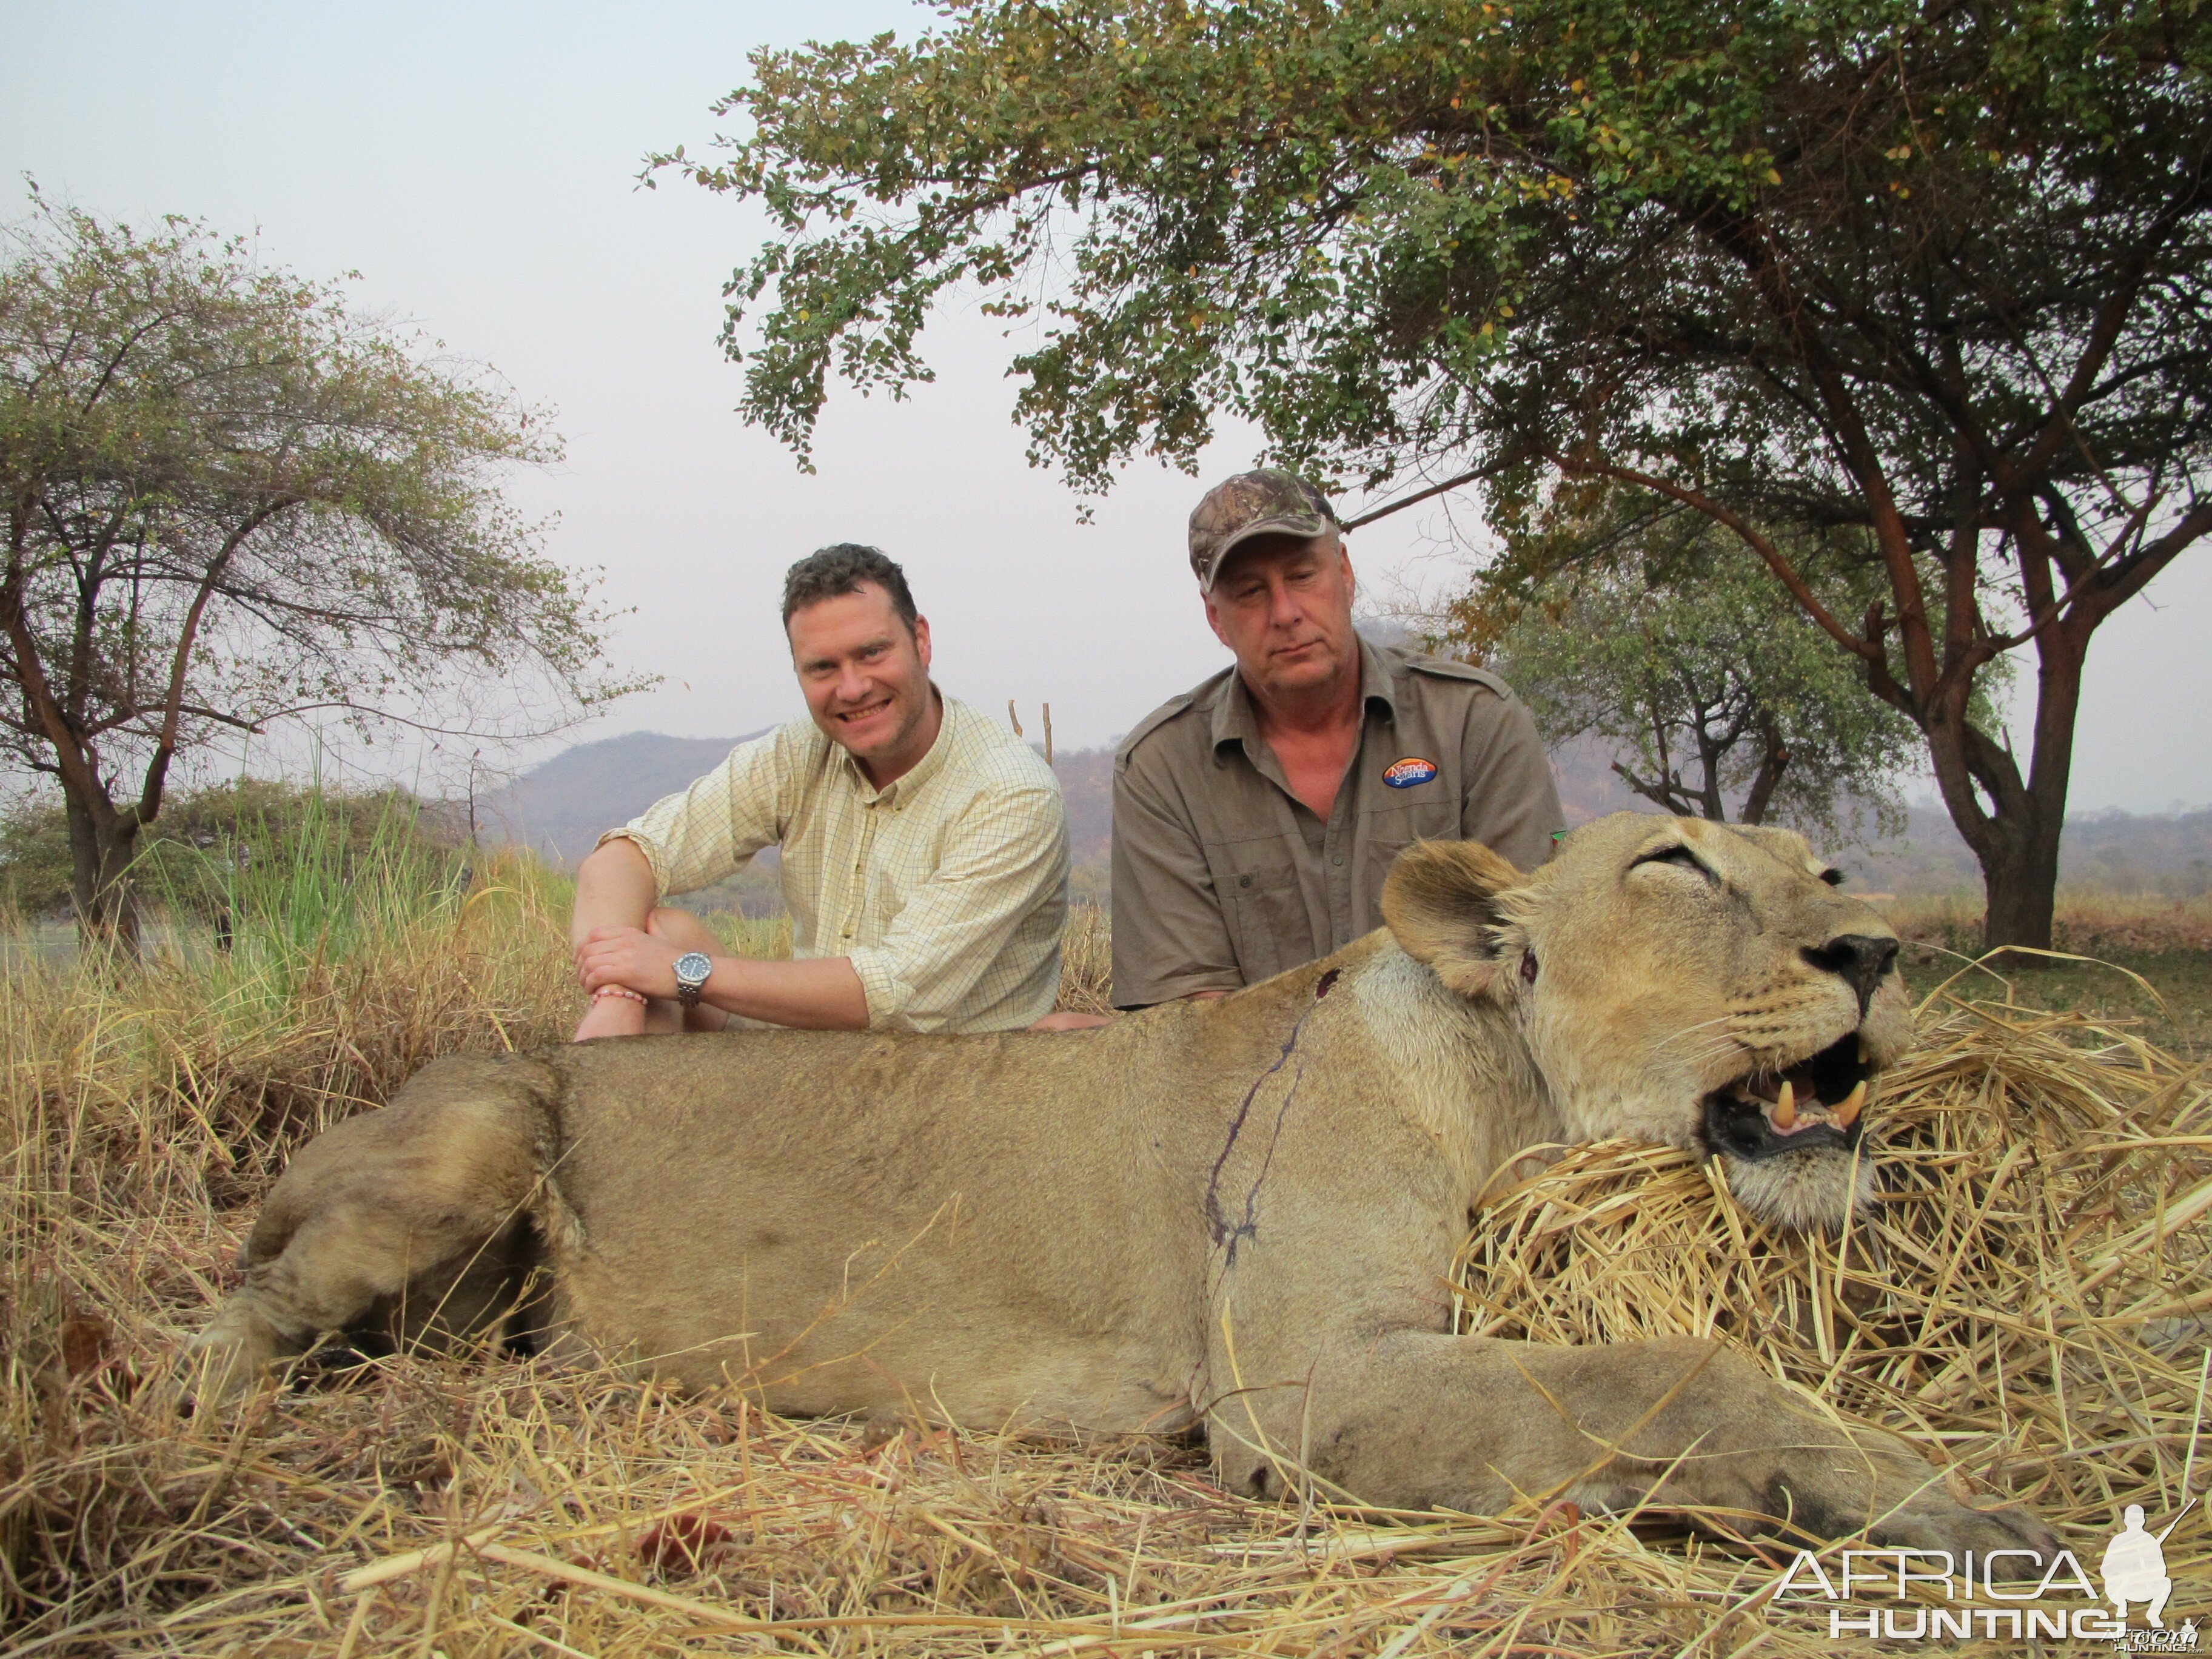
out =
<svg viewBox="0 0 2212 1659"><path fill-rule="evenodd" d="M1719 1343L1540 1347L1400 1329L1318 1360L1312 1378L1310 1402L1281 1387L1263 1396L1279 1458L1303 1438L1314 1473L1389 1509L1498 1513L1524 1495L1568 1498L1705 1511L1792 1544L1867 1537L2044 1562L2059 1548L2028 1511L1955 1502L1911 1444L1838 1425ZM1219 1416L1239 1427L1234 1409ZM1239 1484L1265 1491L1265 1455L1239 1447L1232 1462Z"/></svg>

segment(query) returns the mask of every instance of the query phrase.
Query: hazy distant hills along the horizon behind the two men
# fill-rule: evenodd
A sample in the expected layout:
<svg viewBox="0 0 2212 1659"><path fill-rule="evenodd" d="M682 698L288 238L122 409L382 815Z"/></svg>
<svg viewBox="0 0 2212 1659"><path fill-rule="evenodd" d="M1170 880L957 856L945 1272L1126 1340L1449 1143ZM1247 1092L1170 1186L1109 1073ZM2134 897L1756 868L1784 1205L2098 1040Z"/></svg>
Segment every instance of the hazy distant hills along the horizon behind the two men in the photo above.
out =
<svg viewBox="0 0 2212 1659"><path fill-rule="evenodd" d="M754 734L757 737L757 734ZM580 743L526 772L507 790L478 799L478 818L509 841L529 843L573 865L602 830L624 823L664 794L714 768L743 737L664 737L628 732ZM1606 812L1650 812L1610 770L1601 745L1571 743L1553 754L1553 774L1568 823ZM1113 845L1113 750L1060 750L1053 772L1068 801L1068 838L1079 898L1106 898ZM1838 849L1851 885L1891 894L1980 891L1982 876L1966 843L1938 805L1916 805L1902 836L1869 849ZM732 907L772 902L772 878L752 872L732 889ZM2212 810L2137 816L2088 812L2066 821L2059 876L2068 885L2110 891L2159 891L2174 898L2212 891ZM719 898L719 894L717 894Z"/></svg>

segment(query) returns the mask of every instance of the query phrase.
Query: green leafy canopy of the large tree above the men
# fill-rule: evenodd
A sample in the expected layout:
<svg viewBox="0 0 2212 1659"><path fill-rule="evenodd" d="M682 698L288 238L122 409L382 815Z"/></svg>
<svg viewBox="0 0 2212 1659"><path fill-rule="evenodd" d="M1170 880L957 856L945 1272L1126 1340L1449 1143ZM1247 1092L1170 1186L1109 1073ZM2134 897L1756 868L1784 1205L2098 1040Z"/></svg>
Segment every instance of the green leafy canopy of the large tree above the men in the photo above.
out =
<svg viewBox="0 0 2212 1659"><path fill-rule="evenodd" d="M750 135L712 164L661 159L759 197L785 232L732 290L732 352L739 316L774 301L745 352L752 418L803 447L827 374L927 378L922 321L980 285L1004 316L1048 319L1015 361L1022 416L1086 487L1133 449L1192 460L1217 407L1292 460L1365 453L1367 482L1522 418L1637 422L1635 403L1559 396L1593 367L1590 307L1668 327L1617 341L1617 367L1719 372L1772 416L1756 365L1694 338L1730 312L1772 327L1725 241L1747 215L1820 237L1816 259L1860 246L1869 281L1942 228L1922 263L1973 241L2093 307L2053 261L2108 257L2097 228L2192 170L2208 60L2185 2L967 0L947 15L911 44L754 53L721 106ZM2199 334L2181 294L2159 312ZM1975 352L2031 345L2004 316L1975 332ZM1728 416L1666 418L1734 453L1778 436Z"/></svg>

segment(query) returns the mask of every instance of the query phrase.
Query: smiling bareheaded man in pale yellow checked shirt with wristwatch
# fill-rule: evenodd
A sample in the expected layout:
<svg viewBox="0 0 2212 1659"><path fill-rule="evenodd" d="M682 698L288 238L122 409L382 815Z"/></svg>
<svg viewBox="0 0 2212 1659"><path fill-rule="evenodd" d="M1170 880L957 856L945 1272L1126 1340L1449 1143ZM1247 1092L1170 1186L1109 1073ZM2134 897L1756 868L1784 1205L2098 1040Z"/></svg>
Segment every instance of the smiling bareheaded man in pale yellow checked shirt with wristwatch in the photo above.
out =
<svg viewBox="0 0 2212 1659"><path fill-rule="evenodd" d="M611 830L577 869L577 1040L712 1031L1009 1031L1060 989L1068 821L1026 743L929 679L929 622L876 549L794 564L783 628L807 719ZM792 960L721 956L661 900L783 849Z"/></svg>

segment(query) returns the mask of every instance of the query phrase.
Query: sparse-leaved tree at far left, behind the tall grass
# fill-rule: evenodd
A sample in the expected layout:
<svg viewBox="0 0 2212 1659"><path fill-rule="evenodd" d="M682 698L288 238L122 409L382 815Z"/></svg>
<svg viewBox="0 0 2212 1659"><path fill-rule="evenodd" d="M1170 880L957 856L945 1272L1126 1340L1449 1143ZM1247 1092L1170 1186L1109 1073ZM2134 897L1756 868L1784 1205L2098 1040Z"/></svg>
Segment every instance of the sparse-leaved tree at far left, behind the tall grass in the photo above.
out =
<svg viewBox="0 0 2212 1659"><path fill-rule="evenodd" d="M243 241L33 199L0 268L0 743L60 783L80 922L135 942L139 832L217 734L624 690L498 493L555 453L540 411Z"/></svg>

